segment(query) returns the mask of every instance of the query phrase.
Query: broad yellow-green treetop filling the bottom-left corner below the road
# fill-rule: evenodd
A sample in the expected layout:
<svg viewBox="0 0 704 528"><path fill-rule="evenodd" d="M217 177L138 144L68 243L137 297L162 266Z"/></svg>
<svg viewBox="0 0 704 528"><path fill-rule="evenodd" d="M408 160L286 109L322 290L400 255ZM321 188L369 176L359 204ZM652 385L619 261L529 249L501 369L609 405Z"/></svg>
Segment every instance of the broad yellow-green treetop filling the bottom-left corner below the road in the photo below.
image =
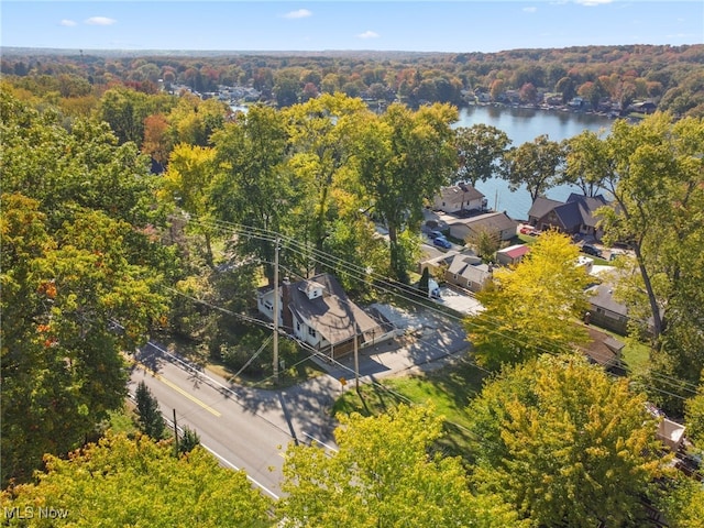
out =
<svg viewBox="0 0 704 528"><path fill-rule="evenodd" d="M96 524L134 527L265 527L271 502L253 488L243 471L221 468L196 448L174 458L167 443L148 437L108 435L70 454L46 458L35 484L2 493L8 508L51 506L68 512L78 528ZM36 512L36 509L34 510ZM10 526L51 527L56 519L13 519ZM67 525L67 526L68 526Z"/></svg>

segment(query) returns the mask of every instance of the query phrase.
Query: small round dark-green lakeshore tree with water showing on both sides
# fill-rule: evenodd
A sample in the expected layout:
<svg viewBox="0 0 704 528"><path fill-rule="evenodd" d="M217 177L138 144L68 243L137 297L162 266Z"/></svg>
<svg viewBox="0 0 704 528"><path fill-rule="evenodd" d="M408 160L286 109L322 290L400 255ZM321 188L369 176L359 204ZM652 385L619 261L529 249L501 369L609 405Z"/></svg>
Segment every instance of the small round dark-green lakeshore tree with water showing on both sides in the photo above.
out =
<svg viewBox="0 0 704 528"><path fill-rule="evenodd" d="M539 135L506 153L503 176L512 191L525 185L530 199L536 201L558 184L558 169L563 157L560 143L550 141L544 134Z"/></svg>

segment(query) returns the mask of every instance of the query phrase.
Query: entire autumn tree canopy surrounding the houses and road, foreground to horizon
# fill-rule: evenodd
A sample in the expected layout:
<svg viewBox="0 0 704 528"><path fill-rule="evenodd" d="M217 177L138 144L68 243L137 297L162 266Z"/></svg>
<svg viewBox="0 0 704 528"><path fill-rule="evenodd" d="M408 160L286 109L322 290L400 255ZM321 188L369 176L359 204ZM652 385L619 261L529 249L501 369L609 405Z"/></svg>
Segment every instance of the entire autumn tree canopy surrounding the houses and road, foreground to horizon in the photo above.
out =
<svg viewBox="0 0 704 528"><path fill-rule="evenodd" d="M647 499L670 526L700 526L704 491L658 453L644 404L684 417L701 454L704 46L10 52L0 82L0 484L11 508L65 493L63 507L87 517L77 526L92 526L94 512L122 518L122 497L151 499L140 486L163 474L183 485L152 517L135 502L124 524L170 526L183 512L173 505L196 501L202 526L227 526L220 505L231 499L242 508L233 522L264 526L644 526ZM224 86L256 94L246 112L206 95L235 91ZM563 103L648 100L669 112L561 143L540 135L510 145L492 127L452 127L459 106L510 90L521 103L554 90ZM629 332L644 350L640 371L614 380L558 356L584 339L575 324L592 279L573 265L572 239L544 233L520 267L496 270L477 296L485 310L464 319L472 360L494 375L462 400L473 440L458 452L438 451L446 431L432 408L341 418L334 455L302 444L287 452L288 497L272 512L243 473L216 471L205 451L180 444L172 458L168 440L101 438L124 404L124 353L152 334L231 372L271 372L268 327L250 316L257 288L275 282L274 262L294 276L330 273L355 300L393 304L402 292L419 305L424 209L458 178L493 176L534 197L562 183L614 197L618 207L600 213L604 240L632 252L613 267L637 316ZM287 364L305 354L283 341ZM148 416L155 403L138 399ZM145 430L142 419L142 431L158 440L156 422Z"/></svg>

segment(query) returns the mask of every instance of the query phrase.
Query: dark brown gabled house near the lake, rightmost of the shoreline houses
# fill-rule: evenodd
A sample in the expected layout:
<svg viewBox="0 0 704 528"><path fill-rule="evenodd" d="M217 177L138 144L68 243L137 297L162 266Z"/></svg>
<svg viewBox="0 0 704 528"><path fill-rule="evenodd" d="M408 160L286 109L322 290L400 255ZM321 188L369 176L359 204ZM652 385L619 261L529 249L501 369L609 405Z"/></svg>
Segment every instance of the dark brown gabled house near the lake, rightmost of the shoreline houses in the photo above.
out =
<svg viewBox="0 0 704 528"><path fill-rule="evenodd" d="M572 193L566 201L539 196L528 211L528 223L541 231L557 229L563 233L592 235L600 240L604 233L597 227L600 219L596 210L608 204L602 195L591 197Z"/></svg>

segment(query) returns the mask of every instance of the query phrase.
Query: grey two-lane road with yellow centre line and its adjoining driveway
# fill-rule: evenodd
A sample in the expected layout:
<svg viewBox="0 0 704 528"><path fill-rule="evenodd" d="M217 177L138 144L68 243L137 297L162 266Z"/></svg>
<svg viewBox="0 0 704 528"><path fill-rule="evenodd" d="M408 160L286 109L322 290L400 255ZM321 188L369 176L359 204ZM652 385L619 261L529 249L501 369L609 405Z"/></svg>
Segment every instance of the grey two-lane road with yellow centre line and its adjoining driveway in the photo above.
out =
<svg viewBox="0 0 704 528"><path fill-rule="evenodd" d="M407 333L397 342L378 343L360 353L362 383L370 383L416 366L466 351L464 333L440 316L396 312L396 323ZM329 409L343 389L340 377L354 387L353 359L340 364L319 361L328 374L280 391L230 384L198 371L184 360L150 343L135 354L130 389L144 381L165 417L176 409L179 426L188 426L224 465L244 469L265 493L280 494L283 453L289 442L311 439L334 449L334 419Z"/></svg>

